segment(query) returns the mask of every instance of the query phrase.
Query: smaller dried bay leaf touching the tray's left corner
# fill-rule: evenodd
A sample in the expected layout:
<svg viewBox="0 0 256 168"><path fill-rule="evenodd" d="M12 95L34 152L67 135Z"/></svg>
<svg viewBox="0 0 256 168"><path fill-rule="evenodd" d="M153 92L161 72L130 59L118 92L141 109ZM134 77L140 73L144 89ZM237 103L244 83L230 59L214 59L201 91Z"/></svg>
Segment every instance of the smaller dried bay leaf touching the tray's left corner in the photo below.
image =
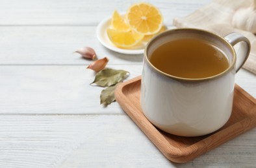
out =
<svg viewBox="0 0 256 168"><path fill-rule="evenodd" d="M100 96L101 104L107 106L116 100L114 97L114 90L116 89L117 86L118 86L118 84L116 84L112 87L107 87L107 89L104 89L101 91L101 96Z"/></svg>

